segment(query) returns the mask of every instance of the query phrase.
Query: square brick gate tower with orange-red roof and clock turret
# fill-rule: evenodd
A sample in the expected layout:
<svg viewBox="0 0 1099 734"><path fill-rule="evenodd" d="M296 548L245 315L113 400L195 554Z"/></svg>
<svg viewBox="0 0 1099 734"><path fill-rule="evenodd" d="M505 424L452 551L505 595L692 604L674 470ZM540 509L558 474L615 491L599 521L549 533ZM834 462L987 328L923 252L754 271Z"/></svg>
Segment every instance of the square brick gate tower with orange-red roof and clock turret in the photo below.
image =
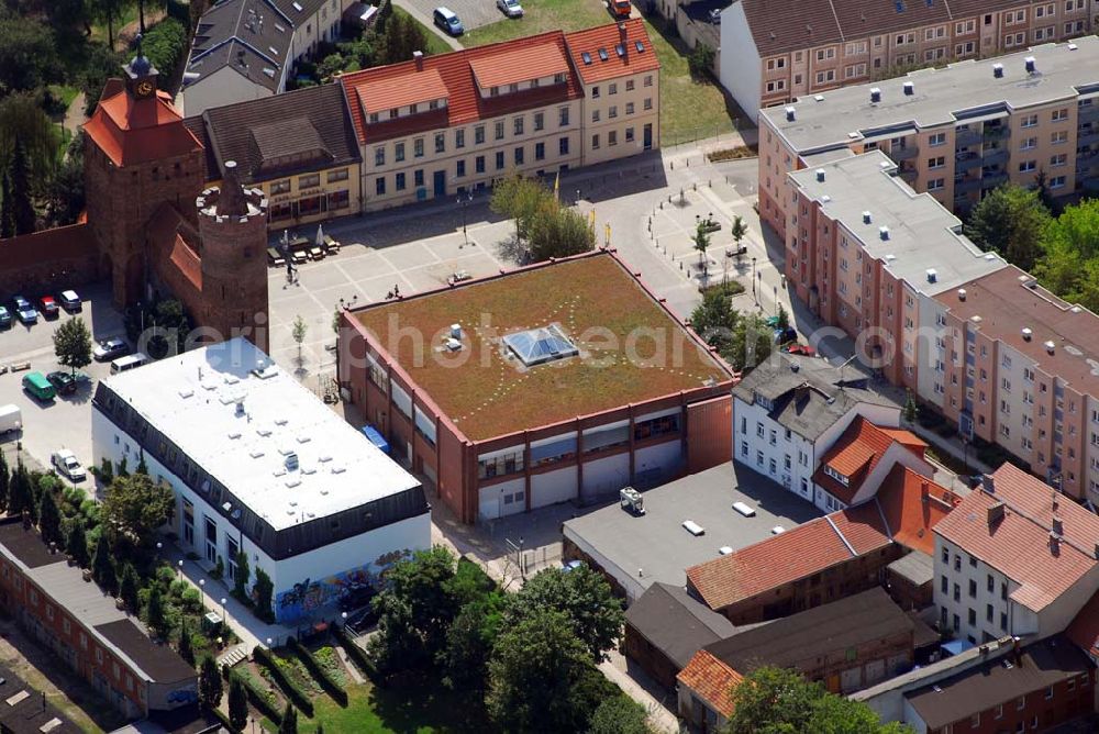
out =
<svg viewBox="0 0 1099 734"><path fill-rule="evenodd" d="M88 222L120 308L144 296L151 218L170 204L195 223L195 196L206 177L202 144L184 125L171 97L157 90L157 70L142 53L141 36L136 55L122 69L124 78L107 82L84 127Z"/></svg>

